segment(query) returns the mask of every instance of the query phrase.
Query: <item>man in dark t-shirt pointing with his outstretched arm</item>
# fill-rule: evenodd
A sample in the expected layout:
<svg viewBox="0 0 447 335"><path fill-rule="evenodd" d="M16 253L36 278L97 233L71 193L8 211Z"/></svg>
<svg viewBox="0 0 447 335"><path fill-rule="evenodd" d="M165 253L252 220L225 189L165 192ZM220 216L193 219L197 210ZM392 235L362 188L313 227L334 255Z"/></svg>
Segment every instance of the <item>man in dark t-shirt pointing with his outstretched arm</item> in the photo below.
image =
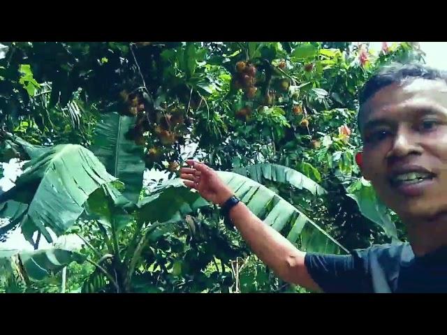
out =
<svg viewBox="0 0 447 335"><path fill-rule="evenodd" d="M305 253L232 198L203 163L189 161L182 178L227 210L284 281L323 292L447 292L447 75L421 65L384 68L360 94L358 125L360 170L406 225L409 244Z"/></svg>

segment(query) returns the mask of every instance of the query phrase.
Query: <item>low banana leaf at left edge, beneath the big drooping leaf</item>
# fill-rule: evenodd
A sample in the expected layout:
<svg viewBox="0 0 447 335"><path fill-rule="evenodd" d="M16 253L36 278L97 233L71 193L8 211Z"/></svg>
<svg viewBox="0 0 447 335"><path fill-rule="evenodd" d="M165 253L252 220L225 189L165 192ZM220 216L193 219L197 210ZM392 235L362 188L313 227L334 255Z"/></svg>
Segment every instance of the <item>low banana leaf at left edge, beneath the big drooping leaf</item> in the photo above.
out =
<svg viewBox="0 0 447 335"><path fill-rule="evenodd" d="M0 276L15 270L31 281L41 281L71 262L81 264L85 259L85 255L59 248L22 252L0 249Z"/></svg>

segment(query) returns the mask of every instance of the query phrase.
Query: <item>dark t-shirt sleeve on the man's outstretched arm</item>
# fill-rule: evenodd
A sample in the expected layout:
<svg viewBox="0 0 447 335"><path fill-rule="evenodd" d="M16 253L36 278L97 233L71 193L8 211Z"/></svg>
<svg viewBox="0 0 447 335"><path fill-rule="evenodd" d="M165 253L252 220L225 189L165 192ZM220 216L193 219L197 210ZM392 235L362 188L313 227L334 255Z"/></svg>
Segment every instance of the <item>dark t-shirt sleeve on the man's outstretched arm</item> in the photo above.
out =
<svg viewBox="0 0 447 335"><path fill-rule="evenodd" d="M359 251L349 255L306 253L305 265L323 292L372 292L367 257L367 253Z"/></svg>

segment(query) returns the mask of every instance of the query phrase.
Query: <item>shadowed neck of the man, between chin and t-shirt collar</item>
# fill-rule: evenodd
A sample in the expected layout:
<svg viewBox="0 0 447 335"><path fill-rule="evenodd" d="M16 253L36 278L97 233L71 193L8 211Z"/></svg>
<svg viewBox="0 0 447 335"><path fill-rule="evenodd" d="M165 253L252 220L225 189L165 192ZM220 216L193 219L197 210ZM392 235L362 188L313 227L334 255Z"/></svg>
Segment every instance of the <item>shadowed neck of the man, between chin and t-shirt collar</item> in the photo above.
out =
<svg viewBox="0 0 447 335"><path fill-rule="evenodd" d="M447 213L436 218L420 218L404 223L416 256L427 255L441 246L447 246Z"/></svg>

